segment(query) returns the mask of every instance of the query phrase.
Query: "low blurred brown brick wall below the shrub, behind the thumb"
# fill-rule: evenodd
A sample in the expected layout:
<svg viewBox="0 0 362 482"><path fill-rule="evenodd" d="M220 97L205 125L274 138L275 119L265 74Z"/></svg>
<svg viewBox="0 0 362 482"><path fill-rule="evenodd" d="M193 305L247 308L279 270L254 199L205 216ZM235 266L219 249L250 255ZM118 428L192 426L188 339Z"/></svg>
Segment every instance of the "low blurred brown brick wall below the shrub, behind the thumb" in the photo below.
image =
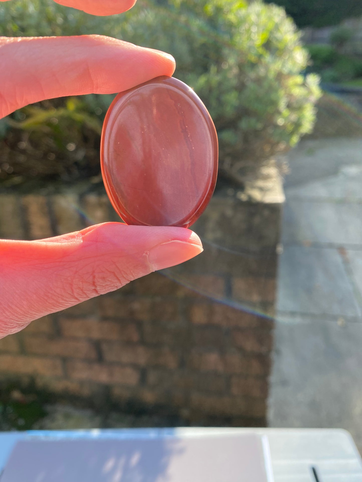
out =
<svg viewBox="0 0 362 482"><path fill-rule="evenodd" d="M280 209L214 197L193 227L203 254L0 340L0 380L191 423L263 425L273 321L239 308L273 314ZM1 238L107 220L119 219L104 195L0 196Z"/></svg>

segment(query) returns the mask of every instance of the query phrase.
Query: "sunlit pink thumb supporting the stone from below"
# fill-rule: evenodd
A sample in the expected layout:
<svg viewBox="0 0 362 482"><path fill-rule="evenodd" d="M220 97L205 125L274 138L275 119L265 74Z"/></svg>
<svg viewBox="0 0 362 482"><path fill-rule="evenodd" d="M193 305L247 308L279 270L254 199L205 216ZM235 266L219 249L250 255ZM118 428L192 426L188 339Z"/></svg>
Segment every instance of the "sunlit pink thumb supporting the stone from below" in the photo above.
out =
<svg viewBox="0 0 362 482"><path fill-rule="evenodd" d="M104 223L40 241L0 241L0 338L202 252L191 230Z"/></svg>

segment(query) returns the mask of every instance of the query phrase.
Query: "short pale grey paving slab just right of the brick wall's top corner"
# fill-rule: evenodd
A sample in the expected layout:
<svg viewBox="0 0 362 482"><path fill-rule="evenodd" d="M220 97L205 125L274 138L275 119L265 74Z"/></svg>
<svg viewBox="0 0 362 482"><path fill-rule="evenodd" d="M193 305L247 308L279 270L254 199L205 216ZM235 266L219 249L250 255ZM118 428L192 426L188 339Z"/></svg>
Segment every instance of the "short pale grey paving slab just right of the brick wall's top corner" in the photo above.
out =
<svg viewBox="0 0 362 482"><path fill-rule="evenodd" d="M362 244L362 203L288 199L282 221L283 243Z"/></svg>

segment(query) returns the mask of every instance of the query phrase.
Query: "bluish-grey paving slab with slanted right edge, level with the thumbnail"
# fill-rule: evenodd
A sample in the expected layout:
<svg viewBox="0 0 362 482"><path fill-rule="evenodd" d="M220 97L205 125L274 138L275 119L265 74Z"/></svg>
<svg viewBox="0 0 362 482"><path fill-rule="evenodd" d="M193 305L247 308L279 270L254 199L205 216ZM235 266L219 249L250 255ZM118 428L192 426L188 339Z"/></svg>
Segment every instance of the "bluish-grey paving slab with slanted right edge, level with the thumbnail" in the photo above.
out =
<svg viewBox="0 0 362 482"><path fill-rule="evenodd" d="M278 269L278 310L361 317L353 284L336 249L286 246Z"/></svg>

